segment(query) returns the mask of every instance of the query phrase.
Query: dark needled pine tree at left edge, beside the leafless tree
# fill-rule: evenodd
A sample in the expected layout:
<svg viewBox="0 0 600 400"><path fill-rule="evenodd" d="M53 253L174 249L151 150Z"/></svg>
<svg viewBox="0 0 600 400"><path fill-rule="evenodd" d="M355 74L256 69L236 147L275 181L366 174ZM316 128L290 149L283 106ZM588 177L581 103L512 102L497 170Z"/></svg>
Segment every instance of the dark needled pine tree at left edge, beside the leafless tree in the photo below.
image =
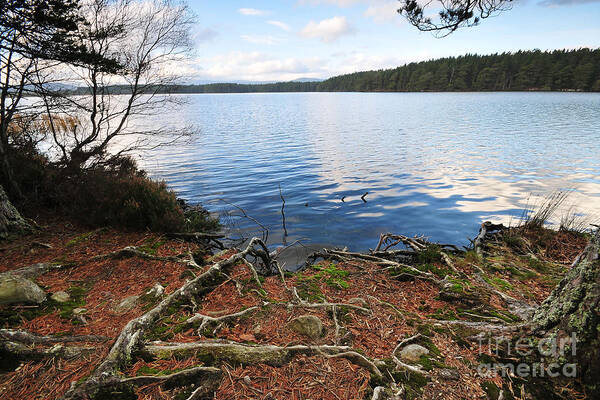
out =
<svg viewBox="0 0 600 400"><path fill-rule="evenodd" d="M76 0L0 0L0 10L0 175L7 190L21 197L9 137L13 119L31 110L21 100L30 94L39 60L75 61L86 51L75 39Z"/></svg>

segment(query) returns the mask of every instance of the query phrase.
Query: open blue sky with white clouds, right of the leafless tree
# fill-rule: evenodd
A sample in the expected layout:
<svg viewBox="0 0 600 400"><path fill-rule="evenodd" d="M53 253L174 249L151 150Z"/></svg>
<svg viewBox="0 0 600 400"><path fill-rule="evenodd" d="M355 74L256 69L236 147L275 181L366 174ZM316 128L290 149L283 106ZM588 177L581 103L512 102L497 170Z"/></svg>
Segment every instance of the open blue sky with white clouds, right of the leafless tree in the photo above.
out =
<svg viewBox="0 0 600 400"><path fill-rule="evenodd" d="M465 53L600 47L600 0L516 0L513 9L438 39L395 0L189 0L190 81L285 81L390 68ZM183 67L183 66L182 66Z"/></svg>

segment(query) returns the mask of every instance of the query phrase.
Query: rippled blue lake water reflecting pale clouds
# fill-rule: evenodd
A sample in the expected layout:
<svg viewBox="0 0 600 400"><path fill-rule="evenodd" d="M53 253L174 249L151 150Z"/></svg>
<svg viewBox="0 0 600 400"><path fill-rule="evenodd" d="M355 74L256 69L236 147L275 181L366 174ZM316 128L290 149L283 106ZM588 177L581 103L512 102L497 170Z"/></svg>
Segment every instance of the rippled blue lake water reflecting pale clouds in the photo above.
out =
<svg viewBox="0 0 600 400"><path fill-rule="evenodd" d="M303 239L352 250L374 247L382 232L467 244L483 220L514 222L538 201L532 194L556 189L572 189L571 203L600 215L597 93L182 98L161 123L192 123L199 134L142 165L219 212L232 236L260 231L227 202L268 226L272 245Z"/></svg>

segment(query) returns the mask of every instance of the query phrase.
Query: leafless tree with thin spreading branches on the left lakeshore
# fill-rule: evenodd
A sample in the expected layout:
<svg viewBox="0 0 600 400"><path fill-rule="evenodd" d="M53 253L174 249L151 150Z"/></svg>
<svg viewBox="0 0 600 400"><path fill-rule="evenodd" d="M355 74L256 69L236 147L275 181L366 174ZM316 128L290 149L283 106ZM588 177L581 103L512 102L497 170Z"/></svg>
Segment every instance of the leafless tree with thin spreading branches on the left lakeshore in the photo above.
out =
<svg viewBox="0 0 600 400"><path fill-rule="evenodd" d="M68 95L40 87L58 163L79 171L101 164L109 154L171 143L188 134L164 126L142 129L130 121L177 101L164 92L178 80L174 71L191 49L188 7L173 0L87 0L81 15L87 21L84 45L102 57L114 57L121 67L107 71L95 63L67 65L40 77L58 76L78 86ZM65 116L75 123L64 124Z"/></svg>

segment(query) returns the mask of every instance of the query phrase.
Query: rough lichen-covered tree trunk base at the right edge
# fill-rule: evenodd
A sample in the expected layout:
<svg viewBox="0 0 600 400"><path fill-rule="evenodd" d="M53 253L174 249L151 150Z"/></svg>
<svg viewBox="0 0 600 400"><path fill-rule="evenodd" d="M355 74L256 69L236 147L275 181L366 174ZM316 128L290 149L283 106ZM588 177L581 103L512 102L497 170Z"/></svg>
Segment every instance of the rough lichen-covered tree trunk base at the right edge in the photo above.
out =
<svg viewBox="0 0 600 400"><path fill-rule="evenodd" d="M551 359L576 364L590 398L600 398L599 251L600 230L533 317L537 336L566 344L567 351Z"/></svg>

